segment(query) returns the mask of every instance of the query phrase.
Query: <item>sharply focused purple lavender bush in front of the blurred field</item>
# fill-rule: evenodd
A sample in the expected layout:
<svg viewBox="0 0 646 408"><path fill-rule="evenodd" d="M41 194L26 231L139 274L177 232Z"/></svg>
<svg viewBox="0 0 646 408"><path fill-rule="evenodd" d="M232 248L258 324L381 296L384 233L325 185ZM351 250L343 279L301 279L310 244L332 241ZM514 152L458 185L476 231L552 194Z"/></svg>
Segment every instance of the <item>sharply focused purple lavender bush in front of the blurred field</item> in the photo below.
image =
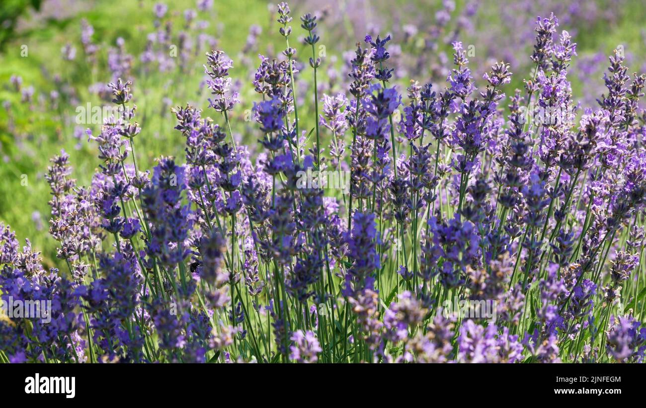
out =
<svg viewBox="0 0 646 408"><path fill-rule="evenodd" d="M231 132L240 95L221 50L204 59L214 118L172 108L185 157L151 170L137 161L134 81L109 83L118 109L87 131L90 185L64 151L47 169L67 269L45 270L2 225L2 300L51 307L0 321L0 359L643 361L646 77L621 52L583 111L568 80L576 44L554 15L536 20L534 70L506 108L508 63L477 87L459 41L445 84L412 81L403 96L391 37L368 35L348 92L319 94L317 17L300 17L304 57L286 3L277 21L284 57L261 56L253 79L258 154ZM348 194L324 171L347 172Z"/></svg>

